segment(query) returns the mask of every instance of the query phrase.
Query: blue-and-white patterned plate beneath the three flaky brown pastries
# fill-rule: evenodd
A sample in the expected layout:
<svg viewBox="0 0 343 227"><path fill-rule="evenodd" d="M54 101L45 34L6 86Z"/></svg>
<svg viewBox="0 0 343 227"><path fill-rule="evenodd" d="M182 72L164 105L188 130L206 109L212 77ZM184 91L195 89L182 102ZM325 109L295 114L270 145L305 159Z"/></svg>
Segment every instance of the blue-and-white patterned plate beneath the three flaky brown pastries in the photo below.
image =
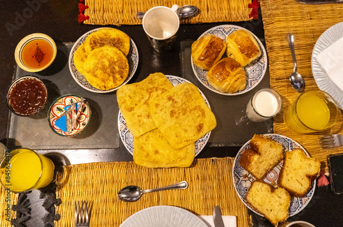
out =
<svg viewBox="0 0 343 227"><path fill-rule="evenodd" d="M206 35L206 34L213 34L215 36L218 36L222 38L223 40L226 40L226 37L230 35L231 33L235 32L238 29L244 29L248 32L250 32L248 29L245 29L244 27L239 27L236 25L219 25L217 27L212 27L211 29L204 32L200 37ZM252 34L252 32L250 32ZM265 48L259 38L255 36L255 34L252 34L252 36L255 37L257 40L257 43L259 43L259 47L261 49L261 56L257 58L257 60L252 61L250 64L248 64L246 67L244 67L244 71L246 71L246 88L242 91L237 91L234 94L230 93L222 93L221 91L218 91L217 89L213 88L211 84L207 81L206 75L207 70L201 69L200 67L197 67L195 64L193 64L193 58L191 58L191 65L193 68L194 74L196 74L196 77L198 80L206 86L206 88L209 88L211 91L218 93L220 95L240 95L243 93L246 93L250 91L252 88L255 88L259 82L263 79L263 76L265 75L265 71L267 71L267 65L268 65L268 59L267 59L267 52L265 51ZM199 37L199 38L200 38Z"/></svg>

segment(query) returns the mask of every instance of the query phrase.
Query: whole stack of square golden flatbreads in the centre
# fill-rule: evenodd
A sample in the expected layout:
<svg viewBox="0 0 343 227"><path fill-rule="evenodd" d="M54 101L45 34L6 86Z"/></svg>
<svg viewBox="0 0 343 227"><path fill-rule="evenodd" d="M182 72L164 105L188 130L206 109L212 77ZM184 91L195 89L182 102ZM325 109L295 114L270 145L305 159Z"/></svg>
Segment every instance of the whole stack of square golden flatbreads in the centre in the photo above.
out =
<svg viewBox="0 0 343 227"><path fill-rule="evenodd" d="M196 141L217 125L195 85L173 86L163 73L121 86L117 101L134 136L134 163L145 167L189 167Z"/></svg>

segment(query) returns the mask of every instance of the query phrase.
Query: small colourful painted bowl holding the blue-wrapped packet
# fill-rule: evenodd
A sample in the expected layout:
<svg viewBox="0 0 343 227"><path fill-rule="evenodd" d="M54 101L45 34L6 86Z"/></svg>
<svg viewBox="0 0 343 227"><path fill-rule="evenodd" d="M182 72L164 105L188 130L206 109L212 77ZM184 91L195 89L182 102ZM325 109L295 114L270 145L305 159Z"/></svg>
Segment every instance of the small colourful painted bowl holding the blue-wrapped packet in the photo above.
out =
<svg viewBox="0 0 343 227"><path fill-rule="evenodd" d="M91 107L89 106L87 101L84 101L80 117L78 118L78 127L75 128L71 134L63 132L54 124L58 117L60 117L60 115L62 115L65 112L65 106L68 106L78 101L81 101L81 97L78 95L62 95L51 104L49 108L48 120L50 128L54 132L56 132L56 134L60 136L75 136L77 134L80 134L88 126L88 123L91 119Z"/></svg>

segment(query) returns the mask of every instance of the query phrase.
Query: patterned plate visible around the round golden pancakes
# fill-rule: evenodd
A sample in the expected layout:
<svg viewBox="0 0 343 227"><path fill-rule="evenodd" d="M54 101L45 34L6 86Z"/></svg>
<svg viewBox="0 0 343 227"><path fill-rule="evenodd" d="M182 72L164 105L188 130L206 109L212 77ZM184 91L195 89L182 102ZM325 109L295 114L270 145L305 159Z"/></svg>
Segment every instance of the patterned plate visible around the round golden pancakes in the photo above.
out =
<svg viewBox="0 0 343 227"><path fill-rule="evenodd" d="M69 71L71 73L71 76L73 77L73 79L75 80L75 82L77 82L80 86L82 86L82 88L94 92L94 93L109 93L112 91L116 91L118 88L120 88L121 86L123 86L124 84L127 84L131 78L133 77L134 73L137 70L138 67L138 62L139 62L139 54L138 54L138 49L136 47L136 44L134 43L134 41L132 40L132 38L130 38L130 51L128 53L128 63L129 63L129 74L128 77L126 78L126 80L123 82L123 84L121 84L120 86L117 86L116 88L112 88L110 90L100 90L97 89L95 87L93 87L91 84L88 83L88 81L86 80L86 78L84 77L84 75L82 75L78 69L76 69L75 64L74 64L74 53L75 51L78 49L78 47L80 47L80 45L82 45L82 43L84 43L84 40L86 40L86 38L93 32L97 32L97 30L99 29L104 29L104 28L110 28L110 27L101 27L101 28L97 28L97 29L93 29L89 32L87 32L86 34L84 34L83 36L81 36L73 45L73 47L71 48L71 51L69 53Z"/></svg>

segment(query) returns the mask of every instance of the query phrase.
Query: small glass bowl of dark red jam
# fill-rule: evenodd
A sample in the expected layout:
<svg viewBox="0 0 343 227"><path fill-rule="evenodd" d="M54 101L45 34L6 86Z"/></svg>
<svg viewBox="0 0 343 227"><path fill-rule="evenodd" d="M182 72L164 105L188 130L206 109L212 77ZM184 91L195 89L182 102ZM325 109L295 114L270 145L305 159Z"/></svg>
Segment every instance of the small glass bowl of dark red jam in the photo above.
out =
<svg viewBox="0 0 343 227"><path fill-rule="evenodd" d="M8 88L8 107L15 115L32 116L42 110L46 102L47 87L38 77L20 77Z"/></svg>

